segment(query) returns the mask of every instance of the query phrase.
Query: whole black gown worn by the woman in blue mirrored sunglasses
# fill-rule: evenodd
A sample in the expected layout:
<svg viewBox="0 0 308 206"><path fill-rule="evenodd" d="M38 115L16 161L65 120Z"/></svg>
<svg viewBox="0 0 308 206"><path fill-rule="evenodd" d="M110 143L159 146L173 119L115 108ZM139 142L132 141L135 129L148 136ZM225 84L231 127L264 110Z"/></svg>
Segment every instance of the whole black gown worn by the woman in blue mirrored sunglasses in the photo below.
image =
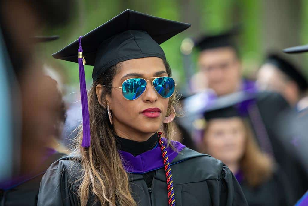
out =
<svg viewBox="0 0 308 206"><path fill-rule="evenodd" d="M177 206L247 205L239 183L221 161L185 147L170 165ZM80 182L75 180L81 174L71 171L80 168L80 162L71 157L53 163L41 181L38 206L78 205L76 191ZM143 174L129 173L128 176L132 196L138 205L168 205L164 168L155 170L151 188ZM93 202L91 195L88 205Z"/></svg>

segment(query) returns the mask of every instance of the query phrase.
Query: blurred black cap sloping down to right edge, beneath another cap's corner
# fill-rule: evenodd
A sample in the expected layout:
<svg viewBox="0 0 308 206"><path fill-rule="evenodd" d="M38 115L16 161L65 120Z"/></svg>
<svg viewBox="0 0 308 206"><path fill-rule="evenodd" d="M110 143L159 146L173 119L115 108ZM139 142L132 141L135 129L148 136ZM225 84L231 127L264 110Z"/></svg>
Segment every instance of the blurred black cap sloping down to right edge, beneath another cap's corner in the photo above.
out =
<svg viewBox="0 0 308 206"><path fill-rule="evenodd" d="M300 69L290 61L277 54L270 54L265 60L266 63L275 65L279 70L286 74L290 79L298 84L300 90L305 91L308 88L308 82Z"/></svg>

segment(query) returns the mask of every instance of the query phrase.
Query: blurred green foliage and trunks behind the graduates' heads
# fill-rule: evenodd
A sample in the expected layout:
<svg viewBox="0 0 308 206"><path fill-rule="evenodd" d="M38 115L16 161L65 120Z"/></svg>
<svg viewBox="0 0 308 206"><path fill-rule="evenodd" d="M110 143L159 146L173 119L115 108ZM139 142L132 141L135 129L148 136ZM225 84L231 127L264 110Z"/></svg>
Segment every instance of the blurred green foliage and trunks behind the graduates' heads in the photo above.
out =
<svg viewBox="0 0 308 206"><path fill-rule="evenodd" d="M79 0L76 4L76 15L69 25L45 30L46 35L61 36L57 41L39 45L43 47L41 51L44 52L38 54L44 58L48 66L62 75L61 82L69 85L70 91L74 88L79 89L78 65L55 60L51 54L128 8L166 19L192 23L187 31L161 45L179 85L185 81L180 45L186 37L219 33L240 24L242 29L237 36L237 43L243 61L243 73L249 78L253 78L268 51L280 51L283 48L308 44L306 0ZM300 65L306 75L308 74L305 66L308 62L307 55L288 57ZM90 86L90 66L85 66L85 74Z"/></svg>

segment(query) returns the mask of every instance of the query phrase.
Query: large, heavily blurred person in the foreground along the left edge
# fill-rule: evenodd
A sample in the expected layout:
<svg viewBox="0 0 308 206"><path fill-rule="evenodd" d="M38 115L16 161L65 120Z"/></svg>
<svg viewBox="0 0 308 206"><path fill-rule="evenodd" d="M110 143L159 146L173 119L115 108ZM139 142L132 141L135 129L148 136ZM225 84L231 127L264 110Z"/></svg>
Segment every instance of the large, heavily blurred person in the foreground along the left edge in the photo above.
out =
<svg viewBox="0 0 308 206"><path fill-rule="evenodd" d="M68 7L72 10L67 11ZM55 83L46 81L44 59L36 53L37 43L44 37L34 36L65 25L73 8L70 1L0 1L1 46L6 51L1 69L7 74L11 102L10 118L1 118L7 118L12 128L10 137L1 137L10 141L0 150L6 151L3 158L11 162L1 165L10 171L0 179L2 205L36 205L40 178L59 158L48 145L61 119L60 98Z"/></svg>

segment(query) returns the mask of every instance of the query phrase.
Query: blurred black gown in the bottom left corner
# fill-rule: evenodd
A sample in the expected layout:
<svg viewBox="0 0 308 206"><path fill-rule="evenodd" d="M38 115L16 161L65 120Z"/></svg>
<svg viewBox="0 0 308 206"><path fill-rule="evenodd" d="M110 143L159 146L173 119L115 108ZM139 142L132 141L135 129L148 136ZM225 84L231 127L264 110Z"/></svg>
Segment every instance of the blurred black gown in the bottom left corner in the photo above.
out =
<svg viewBox="0 0 308 206"><path fill-rule="evenodd" d="M41 171L33 174L30 178L22 180L16 186L7 190L0 190L0 205L1 206L34 206L37 205L39 195L39 185L43 174L47 168L65 156L63 153L56 152L52 154L41 166Z"/></svg>

